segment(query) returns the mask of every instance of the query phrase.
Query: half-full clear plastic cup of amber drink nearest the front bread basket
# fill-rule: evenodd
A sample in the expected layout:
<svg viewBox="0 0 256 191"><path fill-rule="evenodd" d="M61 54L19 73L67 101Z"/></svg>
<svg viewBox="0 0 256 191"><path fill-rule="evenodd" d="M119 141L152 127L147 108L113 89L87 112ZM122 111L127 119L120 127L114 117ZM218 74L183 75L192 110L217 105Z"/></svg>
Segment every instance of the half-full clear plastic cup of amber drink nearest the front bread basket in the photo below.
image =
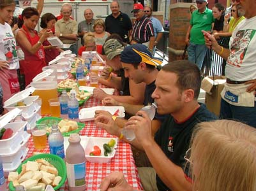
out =
<svg viewBox="0 0 256 191"><path fill-rule="evenodd" d="M45 146L47 145L46 131L47 125L45 124L37 124L33 129L31 129L34 148L39 150L45 148Z"/></svg>

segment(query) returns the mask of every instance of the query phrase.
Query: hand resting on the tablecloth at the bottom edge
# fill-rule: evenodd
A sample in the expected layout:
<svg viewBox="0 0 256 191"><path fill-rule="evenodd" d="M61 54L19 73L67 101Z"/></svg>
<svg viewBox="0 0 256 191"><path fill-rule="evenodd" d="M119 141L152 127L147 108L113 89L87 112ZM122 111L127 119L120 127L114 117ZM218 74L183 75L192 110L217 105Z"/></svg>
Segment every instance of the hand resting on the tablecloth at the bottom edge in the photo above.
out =
<svg viewBox="0 0 256 191"><path fill-rule="evenodd" d="M125 180L124 174L114 172L105 177L100 183L101 191L132 191L134 190Z"/></svg>

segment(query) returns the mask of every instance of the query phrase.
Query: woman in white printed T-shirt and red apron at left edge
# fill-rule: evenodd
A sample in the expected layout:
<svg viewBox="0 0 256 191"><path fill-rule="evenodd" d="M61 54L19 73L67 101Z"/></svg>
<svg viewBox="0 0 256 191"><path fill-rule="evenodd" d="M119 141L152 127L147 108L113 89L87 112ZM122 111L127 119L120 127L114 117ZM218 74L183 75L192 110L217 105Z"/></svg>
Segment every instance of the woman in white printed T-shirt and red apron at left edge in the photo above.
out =
<svg viewBox="0 0 256 191"><path fill-rule="evenodd" d="M0 84L3 87L3 103L19 92L20 85L17 76L19 59L16 51L16 41L11 27L6 22L13 17L15 1L0 2ZM1 107L1 106L0 106ZM3 110L3 108L0 108Z"/></svg>

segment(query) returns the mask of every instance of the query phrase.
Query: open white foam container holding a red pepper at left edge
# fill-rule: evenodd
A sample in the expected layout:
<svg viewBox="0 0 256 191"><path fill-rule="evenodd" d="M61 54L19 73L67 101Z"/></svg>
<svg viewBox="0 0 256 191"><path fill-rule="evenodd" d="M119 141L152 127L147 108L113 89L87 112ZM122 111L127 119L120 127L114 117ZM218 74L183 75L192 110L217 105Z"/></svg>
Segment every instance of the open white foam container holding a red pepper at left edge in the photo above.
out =
<svg viewBox="0 0 256 191"><path fill-rule="evenodd" d="M0 155L13 155L26 143L30 137L30 134L24 131L26 125L27 122L14 122L4 126L6 129L12 129L13 136L9 139L0 140Z"/></svg>

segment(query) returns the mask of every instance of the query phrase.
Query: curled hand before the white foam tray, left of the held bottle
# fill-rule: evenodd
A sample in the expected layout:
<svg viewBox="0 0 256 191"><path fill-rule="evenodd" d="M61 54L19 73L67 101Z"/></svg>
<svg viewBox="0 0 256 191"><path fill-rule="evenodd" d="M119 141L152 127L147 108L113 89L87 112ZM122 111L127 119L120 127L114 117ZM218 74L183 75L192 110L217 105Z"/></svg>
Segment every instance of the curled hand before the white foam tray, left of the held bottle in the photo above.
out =
<svg viewBox="0 0 256 191"><path fill-rule="evenodd" d="M109 111L96 110L94 115L96 127L105 129L109 134L119 137L121 129L115 124Z"/></svg>

